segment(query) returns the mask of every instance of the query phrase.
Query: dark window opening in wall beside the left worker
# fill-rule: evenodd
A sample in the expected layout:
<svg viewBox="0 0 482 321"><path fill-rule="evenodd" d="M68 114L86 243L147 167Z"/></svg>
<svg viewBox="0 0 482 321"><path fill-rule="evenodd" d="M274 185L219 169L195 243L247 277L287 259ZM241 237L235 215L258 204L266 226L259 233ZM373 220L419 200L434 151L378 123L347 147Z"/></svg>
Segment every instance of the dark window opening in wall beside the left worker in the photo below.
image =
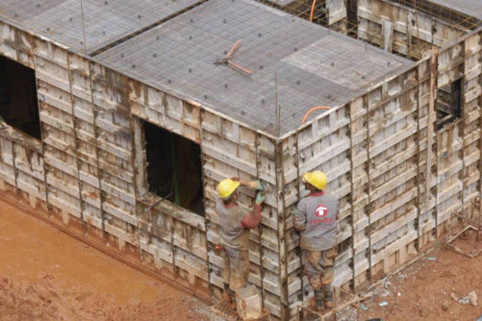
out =
<svg viewBox="0 0 482 321"><path fill-rule="evenodd" d="M204 216L201 148L143 121L149 191Z"/></svg>

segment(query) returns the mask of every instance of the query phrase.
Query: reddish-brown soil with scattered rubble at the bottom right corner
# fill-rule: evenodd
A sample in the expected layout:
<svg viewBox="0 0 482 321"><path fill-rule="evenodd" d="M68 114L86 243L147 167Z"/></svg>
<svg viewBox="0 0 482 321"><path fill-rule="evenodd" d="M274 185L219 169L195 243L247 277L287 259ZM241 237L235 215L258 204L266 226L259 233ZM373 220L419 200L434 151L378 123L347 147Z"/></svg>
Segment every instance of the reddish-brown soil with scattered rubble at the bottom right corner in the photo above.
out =
<svg viewBox="0 0 482 321"><path fill-rule="evenodd" d="M466 231L452 244L470 252L475 245L474 231ZM482 240L476 245L482 248ZM471 291L478 296L477 306L461 304L451 296L462 298ZM368 310L361 310L360 320L475 321L482 316L482 254L469 258L442 246L370 294L373 296L363 302ZM388 304L380 306L384 301Z"/></svg>

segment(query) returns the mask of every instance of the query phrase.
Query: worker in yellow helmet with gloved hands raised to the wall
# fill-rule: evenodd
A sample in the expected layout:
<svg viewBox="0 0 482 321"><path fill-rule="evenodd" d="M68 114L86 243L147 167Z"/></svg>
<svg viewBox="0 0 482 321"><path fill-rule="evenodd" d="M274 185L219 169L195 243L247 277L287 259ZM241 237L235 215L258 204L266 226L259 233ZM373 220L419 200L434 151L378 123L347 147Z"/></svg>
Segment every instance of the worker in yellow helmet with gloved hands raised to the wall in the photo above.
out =
<svg viewBox="0 0 482 321"><path fill-rule="evenodd" d="M238 206L238 187L258 190L253 211ZM261 219L261 204L265 200L259 181L247 182L238 178L224 179L217 186L219 199L216 213L221 225L220 254L224 261L224 298L236 308L234 291L246 286L250 273L248 248L250 229L258 226Z"/></svg>

